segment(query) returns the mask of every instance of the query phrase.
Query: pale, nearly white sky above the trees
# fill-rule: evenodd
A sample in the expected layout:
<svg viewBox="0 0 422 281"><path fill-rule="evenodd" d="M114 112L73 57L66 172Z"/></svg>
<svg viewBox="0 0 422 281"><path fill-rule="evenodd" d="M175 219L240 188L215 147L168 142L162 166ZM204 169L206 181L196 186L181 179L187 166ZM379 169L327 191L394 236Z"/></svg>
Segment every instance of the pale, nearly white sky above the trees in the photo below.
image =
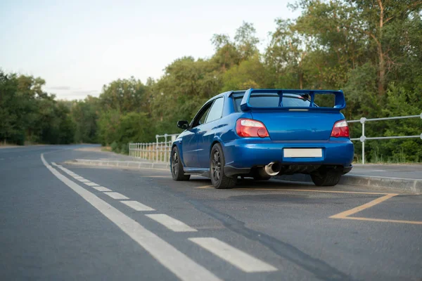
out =
<svg viewBox="0 0 422 281"><path fill-rule="evenodd" d="M46 80L60 99L98 96L104 84L158 79L177 58L210 58L212 34L252 22L263 50L295 0L0 0L0 68Z"/></svg>

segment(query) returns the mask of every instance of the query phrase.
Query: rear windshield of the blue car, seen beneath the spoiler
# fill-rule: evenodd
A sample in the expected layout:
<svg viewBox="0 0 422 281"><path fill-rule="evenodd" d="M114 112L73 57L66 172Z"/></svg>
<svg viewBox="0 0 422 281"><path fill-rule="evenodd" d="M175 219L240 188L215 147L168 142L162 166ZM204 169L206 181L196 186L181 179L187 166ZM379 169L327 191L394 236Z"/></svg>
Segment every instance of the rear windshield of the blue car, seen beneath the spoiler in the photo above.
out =
<svg viewBox="0 0 422 281"><path fill-rule="evenodd" d="M243 95L234 96L235 110L241 111ZM279 107L279 95L277 93L252 93L249 103L252 107ZM283 107L309 107L311 104L307 95L283 94Z"/></svg>

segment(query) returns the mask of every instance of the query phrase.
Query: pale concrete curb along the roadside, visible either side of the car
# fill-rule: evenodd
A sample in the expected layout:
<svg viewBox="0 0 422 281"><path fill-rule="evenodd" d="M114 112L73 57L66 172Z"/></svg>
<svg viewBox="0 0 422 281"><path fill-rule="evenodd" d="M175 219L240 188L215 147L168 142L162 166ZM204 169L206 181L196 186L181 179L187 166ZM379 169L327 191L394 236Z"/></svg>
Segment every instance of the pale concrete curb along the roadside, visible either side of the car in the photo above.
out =
<svg viewBox="0 0 422 281"><path fill-rule="evenodd" d="M170 171L170 164L151 163L139 161L116 161L116 160L94 160L94 159L75 159L65 162L66 164L78 164L87 166L117 166L132 169L160 169ZM309 175L295 174L291 176L275 176L274 178L283 181L301 181L312 183ZM422 179L411 178L387 178L382 176L363 176L363 175L345 175L341 178L340 184L359 185L368 188L385 188L389 190L404 190L409 192L422 192Z"/></svg>

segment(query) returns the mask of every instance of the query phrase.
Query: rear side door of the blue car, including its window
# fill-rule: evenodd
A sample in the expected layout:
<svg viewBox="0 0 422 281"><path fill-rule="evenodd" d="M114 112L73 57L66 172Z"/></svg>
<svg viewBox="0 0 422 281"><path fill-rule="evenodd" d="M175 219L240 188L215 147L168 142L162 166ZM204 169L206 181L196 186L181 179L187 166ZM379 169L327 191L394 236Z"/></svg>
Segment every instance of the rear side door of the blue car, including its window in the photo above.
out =
<svg viewBox="0 0 422 281"><path fill-rule="evenodd" d="M222 118L223 105L224 98L216 98L205 119L205 124L199 126L196 142L198 143L198 164L200 168L210 167L210 148L214 141L215 128Z"/></svg>

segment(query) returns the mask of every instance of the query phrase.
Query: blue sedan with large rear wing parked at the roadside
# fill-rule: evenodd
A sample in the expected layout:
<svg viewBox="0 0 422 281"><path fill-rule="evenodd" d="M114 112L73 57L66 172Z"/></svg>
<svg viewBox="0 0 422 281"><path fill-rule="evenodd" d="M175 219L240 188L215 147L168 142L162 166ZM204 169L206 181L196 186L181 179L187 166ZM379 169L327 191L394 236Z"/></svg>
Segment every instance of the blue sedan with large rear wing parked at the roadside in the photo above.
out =
<svg viewBox="0 0 422 281"><path fill-rule="evenodd" d="M333 100L328 107L316 101ZM309 174L315 185L333 186L352 169L354 147L343 91L248 89L211 98L172 144L175 181L191 174L233 188L238 176Z"/></svg>

